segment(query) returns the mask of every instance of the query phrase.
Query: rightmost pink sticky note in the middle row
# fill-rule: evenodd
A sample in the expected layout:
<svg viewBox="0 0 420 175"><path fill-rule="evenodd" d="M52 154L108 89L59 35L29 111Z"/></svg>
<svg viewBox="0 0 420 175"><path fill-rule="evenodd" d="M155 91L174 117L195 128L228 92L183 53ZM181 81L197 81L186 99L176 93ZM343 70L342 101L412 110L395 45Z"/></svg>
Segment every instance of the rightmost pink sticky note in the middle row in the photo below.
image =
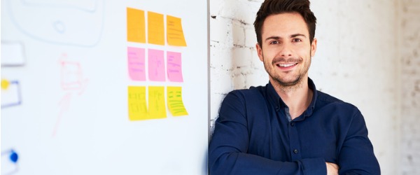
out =
<svg viewBox="0 0 420 175"><path fill-rule="evenodd" d="M167 52L167 73L170 81L183 82L181 64L180 52Z"/></svg>

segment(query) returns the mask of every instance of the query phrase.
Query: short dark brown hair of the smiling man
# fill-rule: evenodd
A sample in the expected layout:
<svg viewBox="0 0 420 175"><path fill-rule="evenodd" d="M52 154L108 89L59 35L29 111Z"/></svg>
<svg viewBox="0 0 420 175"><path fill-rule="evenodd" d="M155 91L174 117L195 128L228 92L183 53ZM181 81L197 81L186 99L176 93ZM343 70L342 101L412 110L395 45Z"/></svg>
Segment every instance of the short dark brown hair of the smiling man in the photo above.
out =
<svg viewBox="0 0 420 175"><path fill-rule="evenodd" d="M302 15L309 30L309 41L312 43L315 36L316 18L309 5L309 0L265 0L261 4L260 10L258 10L254 22L258 44L262 47L261 29L265 18L269 15L280 13L299 13Z"/></svg>

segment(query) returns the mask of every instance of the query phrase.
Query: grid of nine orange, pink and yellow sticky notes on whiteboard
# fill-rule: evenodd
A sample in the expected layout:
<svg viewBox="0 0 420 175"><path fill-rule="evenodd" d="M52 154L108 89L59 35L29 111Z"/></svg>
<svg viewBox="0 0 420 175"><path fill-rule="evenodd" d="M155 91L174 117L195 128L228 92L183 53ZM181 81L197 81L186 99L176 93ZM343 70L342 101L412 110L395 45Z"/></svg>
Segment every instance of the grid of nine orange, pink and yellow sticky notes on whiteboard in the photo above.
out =
<svg viewBox="0 0 420 175"><path fill-rule="evenodd" d="M187 46L181 18L127 8L127 41L130 45L127 47L127 68L131 82L162 84L128 86L129 119L167 118L167 111L172 116L188 116L181 86L182 53L174 51L176 47ZM151 45L153 47L148 47ZM172 50L167 50L167 45ZM166 85L167 82L172 85Z"/></svg>

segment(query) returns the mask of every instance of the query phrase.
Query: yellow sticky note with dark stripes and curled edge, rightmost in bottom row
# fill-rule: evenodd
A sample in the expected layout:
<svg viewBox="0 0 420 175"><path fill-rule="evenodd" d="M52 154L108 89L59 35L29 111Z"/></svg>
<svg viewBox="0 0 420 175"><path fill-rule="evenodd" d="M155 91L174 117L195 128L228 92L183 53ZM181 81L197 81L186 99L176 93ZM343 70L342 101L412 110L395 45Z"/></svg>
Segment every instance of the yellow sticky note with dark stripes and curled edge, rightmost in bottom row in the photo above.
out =
<svg viewBox="0 0 420 175"><path fill-rule="evenodd" d="M169 111L172 116L188 116L186 107L182 101L182 88L181 87L167 87L167 101Z"/></svg>

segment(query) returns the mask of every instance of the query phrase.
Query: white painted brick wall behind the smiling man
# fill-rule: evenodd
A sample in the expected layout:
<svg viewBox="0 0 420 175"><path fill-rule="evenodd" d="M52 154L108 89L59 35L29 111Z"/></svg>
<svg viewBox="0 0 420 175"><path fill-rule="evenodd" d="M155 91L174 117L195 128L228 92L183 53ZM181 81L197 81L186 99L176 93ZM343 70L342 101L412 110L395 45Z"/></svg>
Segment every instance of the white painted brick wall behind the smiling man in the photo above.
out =
<svg viewBox="0 0 420 175"><path fill-rule="evenodd" d="M398 0L311 2L311 8L318 18L315 35L318 38L318 50L312 60L309 76L318 90L358 106L365 116L382 174L400 173L401 162L398 144L401 104L398 99L399 90L403 88L399 83L401 63L398 59L397 2ZM406 2L417 4L419 1ZM253 21L261 3L262 0L210 0L211 125L217 118L221 100L226 93L268 82L267 73L255 52ZM419 31L418 28L412 30L417 37L417 45L412 43L414 48L420 48ZM413 62L414 60L410 65ZM419 65L419 59L416 62ZM418 75L418 66L412 67L417 70ZM417 82L412 88L418 96L412 98L416 99L414 102L417 106L414 107L418 109L419 79L412 80ZM407 106L408 109L412 107ZM412 113L419 116L418 111ZM412 125L407 132L416 130L419 133L419 128ZM420 152L419 136L415 138L415 146L409 150L411 154L416 150ZM409 151L407 155L410 155ZM415 158L416 162L411 161L412 164L407 165L407 169L413 169L410 166L415 163L419 165L419 155Z"/></svg>

